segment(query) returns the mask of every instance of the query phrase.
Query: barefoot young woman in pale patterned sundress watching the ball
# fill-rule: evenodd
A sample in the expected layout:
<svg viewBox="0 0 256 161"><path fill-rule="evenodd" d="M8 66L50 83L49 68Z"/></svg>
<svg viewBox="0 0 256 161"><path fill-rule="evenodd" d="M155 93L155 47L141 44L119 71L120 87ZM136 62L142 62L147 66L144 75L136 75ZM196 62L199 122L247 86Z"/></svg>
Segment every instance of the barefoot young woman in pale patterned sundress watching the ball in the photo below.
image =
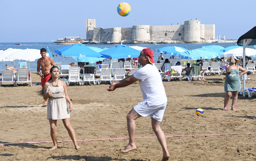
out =
<svg viewBox="0 0 256 161"><path fill-rule="evenodd" d="M67 84L64 81L58 79L59 68L53 66L50 69L51 79L44 84L44 99L48 101L47 104L47 119L49 119L51 137L54 146L50 150L56 149L57 146L57 120L62 119L65 128L69 132L69 136L72 139L75 149L79 149L75 138L75 131L70 125L70 113L73 109L73 104L67 95ZM67 105L69 103L69 106Z"/></svg>

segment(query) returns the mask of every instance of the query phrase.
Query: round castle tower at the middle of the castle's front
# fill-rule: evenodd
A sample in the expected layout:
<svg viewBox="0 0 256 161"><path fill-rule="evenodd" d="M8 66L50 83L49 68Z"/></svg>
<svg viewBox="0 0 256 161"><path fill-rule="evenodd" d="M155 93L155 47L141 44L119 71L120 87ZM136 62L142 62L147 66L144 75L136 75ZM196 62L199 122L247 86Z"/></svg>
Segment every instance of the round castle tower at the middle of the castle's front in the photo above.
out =
<svg viewBox="0 0 256 161"><path fill-rule="evenodd" d="M150 40L149 25L132 26L132 40L133 41L149 41Z"/></svg>

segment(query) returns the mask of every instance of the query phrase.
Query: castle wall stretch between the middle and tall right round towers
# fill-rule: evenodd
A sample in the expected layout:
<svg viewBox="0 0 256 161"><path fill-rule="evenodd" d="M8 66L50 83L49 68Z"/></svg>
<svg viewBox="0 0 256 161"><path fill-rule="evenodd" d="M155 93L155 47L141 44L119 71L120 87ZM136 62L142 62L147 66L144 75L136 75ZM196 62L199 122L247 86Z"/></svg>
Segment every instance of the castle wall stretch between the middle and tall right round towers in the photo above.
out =
<svg viewBox="0 0 256 161"><path fill-rule="evenodd" d="M184 25L150 26L149 30L152 41L184 39Z"/></svg>

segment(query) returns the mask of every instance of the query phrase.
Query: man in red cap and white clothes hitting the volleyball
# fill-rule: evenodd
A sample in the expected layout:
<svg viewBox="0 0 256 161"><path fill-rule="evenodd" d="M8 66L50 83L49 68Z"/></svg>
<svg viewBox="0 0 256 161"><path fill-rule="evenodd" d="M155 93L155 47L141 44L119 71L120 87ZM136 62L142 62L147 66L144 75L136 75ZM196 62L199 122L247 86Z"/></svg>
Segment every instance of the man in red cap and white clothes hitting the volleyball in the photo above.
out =
<svg viewBox="0 0 256 161"><path fill-rule="evenodd" d="M166 92L162 84L161 75L154 65L154 52L149 49L143 49L139 55L139 64L141 67L132 76L128 76L122 81L114 82L107 88L108 91L113 91L116 88L125 87L136 81L139 81L141 92L143 96L142 102L134 106L127 114L127 128L129 133L129 143L121 151L127 153L128 151L136 149L135 144L135 120L141 116L151 117L152 128L156 133L159 143L162 146L163 157L162 161L170 158L166 138L160 125L164 116L164 111L167 104Z"/></svg>

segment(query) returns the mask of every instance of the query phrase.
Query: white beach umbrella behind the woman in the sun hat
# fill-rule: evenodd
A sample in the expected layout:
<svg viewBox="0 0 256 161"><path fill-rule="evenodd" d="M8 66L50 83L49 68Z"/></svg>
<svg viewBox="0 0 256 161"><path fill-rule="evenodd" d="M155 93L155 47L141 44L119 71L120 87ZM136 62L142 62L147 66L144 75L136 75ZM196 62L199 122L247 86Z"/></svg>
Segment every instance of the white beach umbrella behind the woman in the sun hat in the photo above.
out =
<svg viewBox="0 0 256 161"><path fill-rule="evenodd" d="M256 55L256 50L251 48L245 48L245 56L254 56ZM221 54L221 58L229 58L231 56L242 56L243 57L243 48L235 48L229 51L226 51Z"/></svg>

